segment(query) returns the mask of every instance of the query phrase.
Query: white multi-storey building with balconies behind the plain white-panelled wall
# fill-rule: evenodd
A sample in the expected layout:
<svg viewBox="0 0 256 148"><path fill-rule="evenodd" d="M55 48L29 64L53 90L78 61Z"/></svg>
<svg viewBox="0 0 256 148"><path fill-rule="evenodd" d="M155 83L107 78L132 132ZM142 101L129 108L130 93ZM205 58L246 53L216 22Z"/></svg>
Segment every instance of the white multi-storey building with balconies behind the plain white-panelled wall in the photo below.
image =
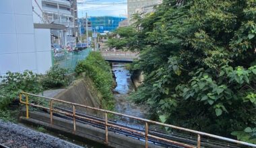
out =
<svg viewBox="0 0 256 148"><path fill-rule="evenodd" d="M62 24L67 30L65 33L53 30L53 42L66 45L75 42L78 35L77 0L34 0L34 23ZM62 35L64 34L64 36Z"/></svg>

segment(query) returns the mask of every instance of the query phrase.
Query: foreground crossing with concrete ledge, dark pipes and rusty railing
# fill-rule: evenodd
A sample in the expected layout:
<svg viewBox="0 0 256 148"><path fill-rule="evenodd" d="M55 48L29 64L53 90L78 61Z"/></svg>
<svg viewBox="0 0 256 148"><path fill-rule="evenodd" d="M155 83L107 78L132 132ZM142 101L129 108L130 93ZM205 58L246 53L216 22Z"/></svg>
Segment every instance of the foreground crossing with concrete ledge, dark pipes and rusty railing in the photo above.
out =
<svg viewBox="0 0 256 148"><path fill-rule="evenodd" d="M49 105L33 104L31 98L44 100ZM82 141L100 143L100 147L256 147L243 141L26 92L20 94L20 103L26 105L26 112L20 117L22 122L41 125ZM41 110L30 111L32 106ZM101 114L88 114L79 108ZM124 118L131 118L134 122L122 122ZM169 128L170 132L164 128Z"/></svg>

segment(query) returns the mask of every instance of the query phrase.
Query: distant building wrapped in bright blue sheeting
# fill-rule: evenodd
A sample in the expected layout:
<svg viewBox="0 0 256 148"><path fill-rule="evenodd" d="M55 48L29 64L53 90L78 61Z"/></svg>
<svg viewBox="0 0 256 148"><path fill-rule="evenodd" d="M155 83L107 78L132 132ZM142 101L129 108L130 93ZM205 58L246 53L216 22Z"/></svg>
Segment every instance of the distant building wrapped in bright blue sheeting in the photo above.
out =
<svg viewBox="0 0 256 148"><path fill-rule="evenodd" d="M99 33L104 32L113 32L119 26L119 22L126 20L125 17L114 17L114 16L95 16L95 17L88 17L88 22L90 22L91 27L89 28L92 31L96 31ZM82 33L85 32L85 25L86 20L79 19L79 22L82 22Z"/></svg>

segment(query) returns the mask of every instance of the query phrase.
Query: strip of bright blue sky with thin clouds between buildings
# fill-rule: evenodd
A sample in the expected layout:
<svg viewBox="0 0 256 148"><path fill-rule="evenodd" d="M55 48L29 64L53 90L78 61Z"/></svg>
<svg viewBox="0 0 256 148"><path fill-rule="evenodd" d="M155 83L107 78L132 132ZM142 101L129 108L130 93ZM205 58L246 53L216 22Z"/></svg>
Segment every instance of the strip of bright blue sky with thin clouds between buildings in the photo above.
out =
<svg viewBox="0 0 256 148"><path fill-rule="evenodd" d="M78 17L122 16L127 17L127 0L77 0Z"/></svg>

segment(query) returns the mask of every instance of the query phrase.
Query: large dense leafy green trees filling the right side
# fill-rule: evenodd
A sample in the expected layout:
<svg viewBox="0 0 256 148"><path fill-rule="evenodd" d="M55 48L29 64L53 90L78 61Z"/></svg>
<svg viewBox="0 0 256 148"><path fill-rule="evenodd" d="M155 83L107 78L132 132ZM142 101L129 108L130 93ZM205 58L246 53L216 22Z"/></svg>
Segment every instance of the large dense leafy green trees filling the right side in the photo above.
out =
<svg viewBox="0 0 256 148"><path fill-rule="evenodd" d="M255 143L246 133L256 122L255 3L166 0L136 15L132 67L145 81L131 98L149 104L152 119Z"/></svg>

